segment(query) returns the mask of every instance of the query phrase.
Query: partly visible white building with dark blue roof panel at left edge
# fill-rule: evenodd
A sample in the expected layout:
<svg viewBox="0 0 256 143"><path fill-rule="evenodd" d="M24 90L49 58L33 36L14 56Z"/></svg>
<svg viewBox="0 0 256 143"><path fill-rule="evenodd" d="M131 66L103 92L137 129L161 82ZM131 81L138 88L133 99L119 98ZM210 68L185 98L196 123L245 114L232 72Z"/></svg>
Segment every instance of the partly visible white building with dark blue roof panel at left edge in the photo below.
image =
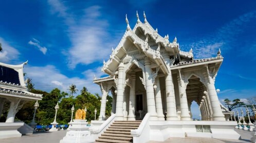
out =
<svg viewBox="0 0 256 143"><path fill-rule="evenodd" d="M0 138L21 137L25 130L33 131L33 128L25 123L14 121L15 114L26 102L42 100L42 94L34 94L27 89L23 72L25 64L27 62L20 65L0 62L0 115L4 110L8 110L4 109L4 104L9 104L5 123L0 122ZM20 128L22 126L25 126L24 129ZM22 133L17 131L18 129Z"/></svg>

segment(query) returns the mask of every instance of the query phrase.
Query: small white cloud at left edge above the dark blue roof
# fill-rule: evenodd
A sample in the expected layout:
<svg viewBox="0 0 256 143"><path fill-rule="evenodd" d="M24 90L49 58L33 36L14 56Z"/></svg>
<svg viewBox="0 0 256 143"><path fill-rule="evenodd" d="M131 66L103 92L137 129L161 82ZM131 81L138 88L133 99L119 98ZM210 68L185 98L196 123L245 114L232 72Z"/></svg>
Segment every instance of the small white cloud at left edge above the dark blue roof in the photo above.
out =
<svg viewBox="0 0 256 143"><path fill-rule="evenodd" d="M0 43L2 44L3 52L0 52L0 61L9 62L11 60L17 60L20 52L12 47L7 41L0 37Z"/></svg>

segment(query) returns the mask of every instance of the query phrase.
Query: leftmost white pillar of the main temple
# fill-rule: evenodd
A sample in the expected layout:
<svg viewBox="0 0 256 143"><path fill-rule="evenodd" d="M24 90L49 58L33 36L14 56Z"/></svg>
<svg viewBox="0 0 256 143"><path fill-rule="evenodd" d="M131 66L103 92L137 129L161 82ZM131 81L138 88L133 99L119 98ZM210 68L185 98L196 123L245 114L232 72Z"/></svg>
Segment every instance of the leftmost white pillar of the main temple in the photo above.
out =
<svg viewBox="0 0 256 143"><path fill-rule="evenodd" d="M99 121L104 121L105 120L105 112L106 112L106 97L107 97L107 91L106 91L106 86L101 84L101 106L100 106L100 116L99 116Z"/></svg>

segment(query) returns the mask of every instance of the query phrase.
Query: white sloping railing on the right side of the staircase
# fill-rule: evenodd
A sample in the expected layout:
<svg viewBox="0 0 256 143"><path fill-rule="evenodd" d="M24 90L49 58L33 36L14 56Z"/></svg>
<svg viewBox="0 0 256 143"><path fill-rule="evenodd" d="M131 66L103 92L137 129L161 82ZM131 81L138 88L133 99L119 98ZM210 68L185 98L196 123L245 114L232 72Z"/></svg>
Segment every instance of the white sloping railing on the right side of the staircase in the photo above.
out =
<svg viewBox="0 0 256 143"><path fill-rule="evenodd" d="M142 122L139 125L138 129L131 130L131 134L133 136L133 142L134 143L143 143L148 142L150 140L150 113L147 113Z"/></svg>

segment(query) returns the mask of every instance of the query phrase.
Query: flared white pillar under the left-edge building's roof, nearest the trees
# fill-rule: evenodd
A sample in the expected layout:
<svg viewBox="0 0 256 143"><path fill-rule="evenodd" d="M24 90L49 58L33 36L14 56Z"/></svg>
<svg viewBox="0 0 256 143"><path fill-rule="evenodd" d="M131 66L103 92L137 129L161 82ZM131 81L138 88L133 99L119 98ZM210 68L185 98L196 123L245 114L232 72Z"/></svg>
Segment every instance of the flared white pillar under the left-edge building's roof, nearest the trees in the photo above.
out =
<svg viewBox="0 0 256 143"><path fill-rule="evenodd" d="M18 106L20 104L19 99L10 99L10 108L5 123L13 123L16 113L19 111ZM21 107L19 107L21 108Z"/></svg>

